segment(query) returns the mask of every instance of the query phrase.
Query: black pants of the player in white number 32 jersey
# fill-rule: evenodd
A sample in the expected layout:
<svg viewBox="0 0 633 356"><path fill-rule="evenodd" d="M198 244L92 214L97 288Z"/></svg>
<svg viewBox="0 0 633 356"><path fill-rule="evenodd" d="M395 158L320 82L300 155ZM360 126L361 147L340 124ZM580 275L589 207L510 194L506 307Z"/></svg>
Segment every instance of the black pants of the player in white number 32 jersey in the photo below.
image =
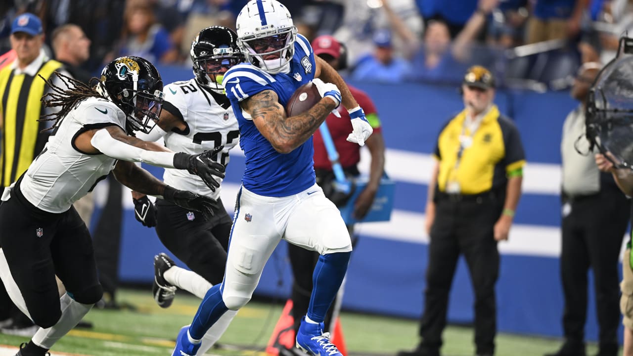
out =
<svg viewBox="0 0 633 356"><path fill-rule="evenodd" d="M168 201L156 200L156 233L168 250L211 284L222 283L232 220L218 199L211 220Z"/></svg>

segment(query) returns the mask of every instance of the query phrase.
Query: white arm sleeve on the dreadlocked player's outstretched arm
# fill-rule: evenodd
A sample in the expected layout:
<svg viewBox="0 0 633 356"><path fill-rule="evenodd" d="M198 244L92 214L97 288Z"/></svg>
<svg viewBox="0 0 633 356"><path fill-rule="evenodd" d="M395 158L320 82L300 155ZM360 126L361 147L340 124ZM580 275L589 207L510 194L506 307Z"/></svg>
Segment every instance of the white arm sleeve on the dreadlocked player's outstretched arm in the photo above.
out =
<svg viewBox="0 0 633 356"><path fill-rule="evenodd" d="M131 146L110 136L108 130L97 130L92 136L91 144L106 156L129 162L146 162L163 168L173 167L173 152L147 151Z"/></svg>

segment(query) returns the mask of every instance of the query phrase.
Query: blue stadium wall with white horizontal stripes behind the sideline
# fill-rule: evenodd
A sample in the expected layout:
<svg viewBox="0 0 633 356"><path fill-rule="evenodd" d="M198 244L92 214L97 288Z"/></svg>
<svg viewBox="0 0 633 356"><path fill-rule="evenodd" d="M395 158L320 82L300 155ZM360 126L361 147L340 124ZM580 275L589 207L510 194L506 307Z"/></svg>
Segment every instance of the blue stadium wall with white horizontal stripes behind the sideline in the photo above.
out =
<svg viewBox="0 0 633 356"><path fill-rule="evenodd" d="M191 70L160 69L165 83L192 77ZM379 111L387 146L387 172L396 181L396 196L391 222L358 226L360 241L349 265L343 306L348 310L418 318L428 262L429 240L423 232L423 221L430 153L442 124L463 104L454 87L367 83L354 86L368 92ZM496 289L499 331L560 336L563 310L558 259L560 134L565 116L577 103L567 92L505 91L497 93L495 102L515 120L529 162L510 241L499 244L502 253ZM368 154L364 157L363 167L367 169ZM146 168L161 176L160 169ZM231 152L222 192L229 212L243 170L244 156L236 148ZM97 205L103 204L104 194L99 186L96 194ZM128 191L123 193L123 201L120 278L123 282L149 283L153 279L153 255L166 249L154 229L135 221ZM291 283L286 246L282 242L266 265L256 294L286 298ZM468 270L460 260L450 296L449 322L472 322L471 286ZM595 298L591 288L588 293L586 334L589 340L596 340ZM411 331L412 337L414 334Z"/></svg>

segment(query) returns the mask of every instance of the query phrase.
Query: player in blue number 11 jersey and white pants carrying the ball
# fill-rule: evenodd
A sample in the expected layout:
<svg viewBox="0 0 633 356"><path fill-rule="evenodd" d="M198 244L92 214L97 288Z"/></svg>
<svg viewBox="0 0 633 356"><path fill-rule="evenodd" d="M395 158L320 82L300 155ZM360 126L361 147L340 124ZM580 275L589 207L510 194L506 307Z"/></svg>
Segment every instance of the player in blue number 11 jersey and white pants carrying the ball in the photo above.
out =
<svg viewBox="0 0 633 356"><path fill-rule="evenodd" d="M297 34L283 4L249 1L237 16L237 36L248 63L230 68L223 84L239 123L246 170L227 269L222 284L206 293L191 326L180 329L172 355L195 355L220 316L248 303L280 239L321 255L296 345L311 355L341 355L323 333L323 319L341 286L352 247L341 213L316 185L312 134L341 103L352 120L349 141L363 145L372 127L334 68L315 58L310 42ZM285 104L310 81L323 98L305 113L287 117Z"/></svg>

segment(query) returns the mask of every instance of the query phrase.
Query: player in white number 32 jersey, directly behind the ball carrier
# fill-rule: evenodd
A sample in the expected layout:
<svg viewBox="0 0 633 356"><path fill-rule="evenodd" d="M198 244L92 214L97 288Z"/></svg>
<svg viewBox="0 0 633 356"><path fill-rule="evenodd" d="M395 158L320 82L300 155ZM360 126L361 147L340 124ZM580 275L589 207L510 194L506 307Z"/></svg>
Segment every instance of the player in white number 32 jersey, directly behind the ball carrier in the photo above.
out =
<svg viewBox="0 0 633 356"><path fill-rule="evenodd" d="M236 40L237 34L227 27L211 26L201 30L191 43L195 77L165 86L160 120L149 134L139 137L146 141L163 137L166 148L194 154L223 146L213 159L226 166L229 150L237 144L239 128L229 99L224 95L222 77L230 67L244 61ZM218 202L213 218L205 220L170 201L157 199L154 206L144 194L132 192L136 219L144 226L156 226L163 245L191 269L176 266L165 253L154 257L154 300L167 308L177 288L204 298L213 284L222 283L232 219L220 200L222 186L211 191L196 175L175 169L166 169L163 180L170 186ZM203 355L213 346L236 313L231 310L222 315L204 335L197 355Z"/></svg>

